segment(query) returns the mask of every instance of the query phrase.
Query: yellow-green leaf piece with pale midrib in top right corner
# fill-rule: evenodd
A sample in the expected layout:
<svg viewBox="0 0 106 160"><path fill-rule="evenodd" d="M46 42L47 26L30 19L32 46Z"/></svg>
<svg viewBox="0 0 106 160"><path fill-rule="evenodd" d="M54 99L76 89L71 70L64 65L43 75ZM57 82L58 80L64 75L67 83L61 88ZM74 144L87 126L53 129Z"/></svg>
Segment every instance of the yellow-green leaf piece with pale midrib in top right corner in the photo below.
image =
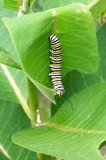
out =
<svg viewBox="0 0 106 160"><path fill-rule="evenodd" d="M98 17L106 10L106 0L94 0L88 5L94 18Z"/></svg>

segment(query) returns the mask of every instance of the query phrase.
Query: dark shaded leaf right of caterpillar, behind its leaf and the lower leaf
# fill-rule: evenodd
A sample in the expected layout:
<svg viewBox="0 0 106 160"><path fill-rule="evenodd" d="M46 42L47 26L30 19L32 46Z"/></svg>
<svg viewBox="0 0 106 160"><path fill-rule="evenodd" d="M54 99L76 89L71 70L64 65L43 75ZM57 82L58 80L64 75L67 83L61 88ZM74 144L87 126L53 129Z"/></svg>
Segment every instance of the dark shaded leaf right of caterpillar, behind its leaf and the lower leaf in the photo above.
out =
<svg viewBox="0 0 106 160"><path fill-rule="evenodd" d="M69 72L63 78L66 99L70 98L73 94L83 90L84 88L106 81L106 23L104 23L97 31L97 41L100 57L98 74L87 75L76 70ZM52 104L52 115L56 113L58 108L60 108L62 103L64 103L64 98L58 98L56 102L56 107ZM71 104L70 107L72 107Z"/></svg>

